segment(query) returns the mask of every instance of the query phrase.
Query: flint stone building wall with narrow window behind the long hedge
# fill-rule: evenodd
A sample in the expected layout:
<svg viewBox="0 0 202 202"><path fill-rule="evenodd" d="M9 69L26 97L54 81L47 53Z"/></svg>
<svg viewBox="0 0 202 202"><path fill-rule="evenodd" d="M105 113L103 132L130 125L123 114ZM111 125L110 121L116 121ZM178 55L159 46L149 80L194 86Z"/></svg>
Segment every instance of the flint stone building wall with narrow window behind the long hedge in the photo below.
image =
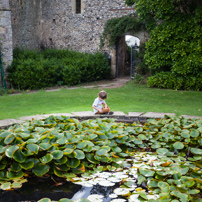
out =
<svg viewBox="0 0 202 202"><path fill-rule="evenodd" d="M8 18L0 23L5 45L12 59L12 48L28 49L69 48L80 52L99 50L100 36L105 22L111 18L135 12L124 0L0 0L0 10ZM10 4L10 8L9 8ZM12 29L11 29L12 24ZM8 36L5 33L8 33ZM7 41L7 42L6 42ZM3 43L4 44L4 43ZM13 47L12 47L13 44ZM7 50L6 48L3 48ZM112 61L112 76L116 74L116 50L106 48ZM7 56L5 56L7 55ZM7 59L5 59L7 60ZM10 60L7 64L10 63Z"/></svg>

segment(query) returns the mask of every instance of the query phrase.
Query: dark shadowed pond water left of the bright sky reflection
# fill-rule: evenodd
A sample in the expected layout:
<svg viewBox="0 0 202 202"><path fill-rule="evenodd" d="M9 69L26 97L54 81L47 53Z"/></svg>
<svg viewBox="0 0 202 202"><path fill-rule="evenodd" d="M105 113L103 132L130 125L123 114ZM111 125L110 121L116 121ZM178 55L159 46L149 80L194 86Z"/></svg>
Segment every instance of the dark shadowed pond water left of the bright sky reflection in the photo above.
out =
<svg viewBox="0 0 202 202"><path fill-rule="evenodd" d="M70 199L82 188L81 185L67 181L62 181L61 184L61 186L55 186L50 178L30 178L20 189L1 192L0 202L36 202L42 198L56 201L61 198Z"/></svg>

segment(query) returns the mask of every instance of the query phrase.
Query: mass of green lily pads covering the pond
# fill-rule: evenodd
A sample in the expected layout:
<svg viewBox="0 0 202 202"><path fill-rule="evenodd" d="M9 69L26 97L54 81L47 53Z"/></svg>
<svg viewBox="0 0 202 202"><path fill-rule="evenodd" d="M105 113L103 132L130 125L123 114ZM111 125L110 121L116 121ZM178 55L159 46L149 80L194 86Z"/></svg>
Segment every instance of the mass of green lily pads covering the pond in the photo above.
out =
<svg viewBox="0 0 202 202"><path fill-rule="evenodd" d="M200 119L166 116L142 126L50 116L0 131L0 145L2 190L21 187L30 175L56 175L85 186L90 178L106 176L101 172L113 171L111 182L121 184L114 193L131 200L201 199ZM105 179L102 186L111 182Z"/></svg>

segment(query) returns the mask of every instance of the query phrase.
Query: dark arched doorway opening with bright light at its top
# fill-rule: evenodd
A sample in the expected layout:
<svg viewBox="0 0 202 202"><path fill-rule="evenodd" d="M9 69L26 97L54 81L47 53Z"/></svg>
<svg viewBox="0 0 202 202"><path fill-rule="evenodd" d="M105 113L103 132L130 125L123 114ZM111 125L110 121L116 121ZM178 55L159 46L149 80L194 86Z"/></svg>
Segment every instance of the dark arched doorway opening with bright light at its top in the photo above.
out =
<svg viewBox="0 0 202 202"><path fill-rule="evenodd" d="M131 46L140 45L140 39L133 35L119 37L116 43L116 77L130 76Z"/></svg>

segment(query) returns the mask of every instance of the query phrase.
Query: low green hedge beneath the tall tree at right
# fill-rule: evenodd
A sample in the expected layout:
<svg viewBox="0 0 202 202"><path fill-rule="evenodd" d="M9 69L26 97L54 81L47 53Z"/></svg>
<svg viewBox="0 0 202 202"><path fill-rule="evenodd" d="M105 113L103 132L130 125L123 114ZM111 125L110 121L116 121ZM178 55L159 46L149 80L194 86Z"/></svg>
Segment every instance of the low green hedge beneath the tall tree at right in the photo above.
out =
<svg viewBox="0 0 202 202"><path fill-rule="evenodd" d="M202 74L199 77L192 75L177 76L171 72L160 72L148 78L148 87L175 89L175 90L202 90Z"/></svg>

